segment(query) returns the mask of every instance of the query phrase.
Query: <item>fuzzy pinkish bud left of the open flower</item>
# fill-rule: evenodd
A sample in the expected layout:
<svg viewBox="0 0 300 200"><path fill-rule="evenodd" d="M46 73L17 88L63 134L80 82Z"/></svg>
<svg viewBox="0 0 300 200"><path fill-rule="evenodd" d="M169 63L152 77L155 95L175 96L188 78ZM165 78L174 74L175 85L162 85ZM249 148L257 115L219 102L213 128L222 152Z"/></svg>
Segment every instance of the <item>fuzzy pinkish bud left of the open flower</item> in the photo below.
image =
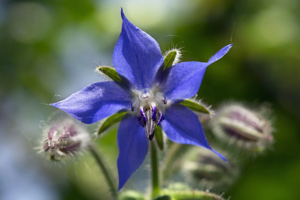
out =
<svg viewBox="0 0 300 200"><path fill-rule="evenodd" d="M51 160L60 161L65 157L79 154L90 145L91 139L83 127L73 120L51 122L43 128L45 139L42 150Z"/></svg>

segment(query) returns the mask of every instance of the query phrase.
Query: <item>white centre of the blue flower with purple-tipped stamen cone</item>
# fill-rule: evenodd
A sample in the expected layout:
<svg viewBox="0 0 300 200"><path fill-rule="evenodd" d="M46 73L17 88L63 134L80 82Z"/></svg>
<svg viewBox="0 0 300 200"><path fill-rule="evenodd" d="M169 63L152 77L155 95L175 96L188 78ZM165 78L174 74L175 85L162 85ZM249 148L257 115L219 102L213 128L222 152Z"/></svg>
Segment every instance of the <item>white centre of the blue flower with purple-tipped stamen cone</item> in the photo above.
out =
<svg viewBox="0 0 300 200"><path fill-rule="evenodd" d="M134 111L136 107L139 108L137 121L145 128L149 140L154 138L155 125L158 126L164 120L164 107L166 104L166 95L152 90L136 92L131 101L131 111Z"/></svg>

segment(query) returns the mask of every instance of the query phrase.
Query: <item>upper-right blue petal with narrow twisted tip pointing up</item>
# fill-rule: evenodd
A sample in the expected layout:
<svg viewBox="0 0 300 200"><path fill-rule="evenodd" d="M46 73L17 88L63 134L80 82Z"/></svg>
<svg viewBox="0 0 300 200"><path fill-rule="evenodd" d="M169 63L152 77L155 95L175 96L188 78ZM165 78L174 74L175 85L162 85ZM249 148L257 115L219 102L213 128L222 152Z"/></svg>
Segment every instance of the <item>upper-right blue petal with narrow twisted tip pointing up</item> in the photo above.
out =
<svg viewBox="0 0 300 200"><path fill-rule="evenodd" d="M190 98L199 90L206 67L222 58L232 44L223 47L208 62L180 62L165 70L165 76L160 89L171 100Z"/></svg>

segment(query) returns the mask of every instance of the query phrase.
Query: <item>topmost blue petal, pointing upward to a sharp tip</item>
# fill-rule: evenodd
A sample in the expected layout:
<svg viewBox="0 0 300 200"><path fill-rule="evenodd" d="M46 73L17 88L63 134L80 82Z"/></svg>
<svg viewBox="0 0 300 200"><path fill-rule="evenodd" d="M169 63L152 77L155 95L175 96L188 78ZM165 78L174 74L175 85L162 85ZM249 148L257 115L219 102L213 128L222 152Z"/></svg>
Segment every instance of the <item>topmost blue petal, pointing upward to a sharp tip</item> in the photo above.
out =
<svg viewBox="0 0 300 200"><path fill-rule="evenodd" d="M164 64L160 47L150 35L132 24L121 10L122 32L113 52L113 65L134 89L151 88Z"/></svg>

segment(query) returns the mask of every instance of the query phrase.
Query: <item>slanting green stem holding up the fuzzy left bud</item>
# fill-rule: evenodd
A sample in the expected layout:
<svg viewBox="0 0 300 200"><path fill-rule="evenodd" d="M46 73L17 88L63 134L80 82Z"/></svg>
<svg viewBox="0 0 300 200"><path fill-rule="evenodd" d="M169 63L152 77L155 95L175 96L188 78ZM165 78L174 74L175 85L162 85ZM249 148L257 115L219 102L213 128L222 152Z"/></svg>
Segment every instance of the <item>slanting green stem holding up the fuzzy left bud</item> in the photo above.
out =
<svg viewBox="0 0 300 200"><path fill-rule="evenodd" d="M104 175L104 178L107 182L107 185L110 188L110 192L111 192L113 198L117 199L118 195L117 195L117 190L116 190L116 187L115 187L115 184L114 184L114 181L113 181L112 173L105 166L100 153L98 152L97 148L94 145L90 146L90 152L91 152L92 156L95 158L97 164L99 165L99 167L100 167L100 169L101 169L101 171Z"/></svg>

